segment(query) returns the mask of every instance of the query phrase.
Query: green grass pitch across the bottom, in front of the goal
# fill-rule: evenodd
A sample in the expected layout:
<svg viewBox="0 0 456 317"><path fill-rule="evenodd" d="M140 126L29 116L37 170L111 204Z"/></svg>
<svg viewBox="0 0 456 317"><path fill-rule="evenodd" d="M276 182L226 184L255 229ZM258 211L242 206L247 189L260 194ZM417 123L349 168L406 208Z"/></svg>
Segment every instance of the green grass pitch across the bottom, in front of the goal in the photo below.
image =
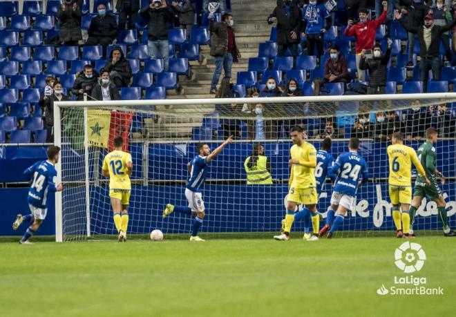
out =
<svg viewBox="0 0 456 317"><path fill-rule="evenodd" d="M0 243L1 316L450 316L455 239L417 238L444 296L379 296L395 238ZM402 313L403 312L403 313Z"/></svg>

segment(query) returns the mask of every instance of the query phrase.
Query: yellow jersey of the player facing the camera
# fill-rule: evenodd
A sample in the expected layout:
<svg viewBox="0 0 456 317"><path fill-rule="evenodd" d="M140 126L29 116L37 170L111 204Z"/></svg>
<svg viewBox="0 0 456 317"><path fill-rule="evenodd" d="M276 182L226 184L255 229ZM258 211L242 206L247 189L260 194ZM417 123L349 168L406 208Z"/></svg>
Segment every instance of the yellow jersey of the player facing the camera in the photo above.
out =
<svg viewBox="0 0 456 317"><path fill-rule="evenodd" d="M306 167L301 164L293 164L292 171L289 175L289 187L294 189L308 189L316 186L315 166L316 166L316 149L307 142L301 145L294 144L289 150L292 160L301 162L311 162L313 167Z"/></svg>

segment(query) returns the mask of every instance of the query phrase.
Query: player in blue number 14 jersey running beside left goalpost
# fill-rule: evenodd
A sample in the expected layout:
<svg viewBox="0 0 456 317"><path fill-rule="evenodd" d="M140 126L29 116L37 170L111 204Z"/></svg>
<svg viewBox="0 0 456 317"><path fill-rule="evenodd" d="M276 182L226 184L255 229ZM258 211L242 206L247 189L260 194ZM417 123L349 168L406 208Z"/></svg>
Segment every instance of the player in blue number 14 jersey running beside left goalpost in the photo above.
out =
<svg viewBox="0 0 456 317"><path fill-rule="evenodd" d="M37 162L23 172L26 178L32 181L27 197L31 213L30 215L21 215L19 213L12 224L12 229L19 228L22 222L32 222L32 225L28 227L26 233L19 241L21 244L32 244L28 239L37 232L41 222L46 218L46 213L48 213L48 192L55 193L62 189L61 184L55 186L55 177L57 177L55 164L59 162L59 146L49 146L47 154L47 161Z"/></svg>

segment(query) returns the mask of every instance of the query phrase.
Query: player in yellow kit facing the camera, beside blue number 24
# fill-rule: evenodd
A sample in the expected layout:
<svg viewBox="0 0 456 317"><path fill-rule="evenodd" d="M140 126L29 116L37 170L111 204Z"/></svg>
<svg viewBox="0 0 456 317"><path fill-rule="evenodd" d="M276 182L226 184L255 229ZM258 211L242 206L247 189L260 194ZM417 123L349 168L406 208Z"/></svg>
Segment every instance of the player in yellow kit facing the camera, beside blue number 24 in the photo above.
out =
<svg viewBox="0 0 456 317"><path fill-rule="evenodd" d="M310 143L304 141L303 129L300 126L293 126L289 133L292 137L293 146L289 153L292 157L289 160L291 173L288 182L288 201L287 214L285 215L285 230L279 236L274 236L276 240L289 240L289 232L294 221L294 211L297 204L305 204L312 215L318 214L316 203L315 166L316 149ZM307 240L318 240L316 236L307 237Z"/></svg>

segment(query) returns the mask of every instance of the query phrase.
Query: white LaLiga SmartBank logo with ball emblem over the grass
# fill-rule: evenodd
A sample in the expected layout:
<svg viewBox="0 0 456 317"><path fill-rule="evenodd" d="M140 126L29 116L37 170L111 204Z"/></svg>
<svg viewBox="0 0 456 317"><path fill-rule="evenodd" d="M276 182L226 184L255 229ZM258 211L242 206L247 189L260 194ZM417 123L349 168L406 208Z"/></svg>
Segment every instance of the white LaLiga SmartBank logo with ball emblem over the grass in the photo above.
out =
<svg viewBox="0 0 456 317"><path fill-rule="evenodd" d="M415 242L403 242L395 251L395 265L403 273L415 273L420 271L426 261L426 253L420 244ZM386 287L384 284L377 289L379 295L444 295L442 287L427 287L426 277L419 276L395 276L393 286Z"/></svg>

